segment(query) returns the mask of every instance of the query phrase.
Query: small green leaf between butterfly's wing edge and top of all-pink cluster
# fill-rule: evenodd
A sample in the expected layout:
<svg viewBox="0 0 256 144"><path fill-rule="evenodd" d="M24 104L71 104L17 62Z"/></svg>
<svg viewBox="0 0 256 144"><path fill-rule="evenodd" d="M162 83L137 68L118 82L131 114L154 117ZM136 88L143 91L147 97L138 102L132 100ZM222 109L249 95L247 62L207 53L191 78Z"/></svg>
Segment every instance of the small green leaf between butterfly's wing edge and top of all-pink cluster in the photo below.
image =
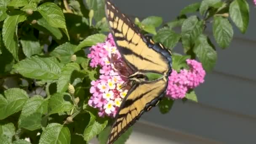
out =
<svg viewBox="0 0 256 144"><path fill-rule="evenodd" d="M172 54L172 68L179 72L182 68L188 68L186 60L190 59L190 56L188 55L178 55L178 54Z"/></svg>

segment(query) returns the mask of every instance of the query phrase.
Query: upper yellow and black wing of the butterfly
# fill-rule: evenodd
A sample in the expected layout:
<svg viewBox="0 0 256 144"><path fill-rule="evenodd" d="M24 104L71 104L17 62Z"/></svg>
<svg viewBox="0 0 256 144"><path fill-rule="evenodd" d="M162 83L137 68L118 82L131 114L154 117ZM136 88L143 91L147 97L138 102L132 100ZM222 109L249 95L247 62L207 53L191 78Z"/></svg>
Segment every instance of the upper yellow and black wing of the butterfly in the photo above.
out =
<svg viewBox="0 0 256 144"><path fill-rule="evenodd" d="M163 55L167 50L154 48L154 43L141 35L139 28L109 0L106 0L105 13L117 49L133 71L160 74L169 72L170 61Z"/></svg>

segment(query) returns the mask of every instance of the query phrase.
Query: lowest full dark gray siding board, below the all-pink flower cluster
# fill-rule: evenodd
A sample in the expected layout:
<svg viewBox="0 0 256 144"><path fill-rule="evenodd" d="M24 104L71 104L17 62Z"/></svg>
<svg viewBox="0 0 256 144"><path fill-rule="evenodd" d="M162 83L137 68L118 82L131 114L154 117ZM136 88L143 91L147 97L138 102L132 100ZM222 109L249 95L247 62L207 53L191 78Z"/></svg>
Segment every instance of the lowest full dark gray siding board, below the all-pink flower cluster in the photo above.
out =
<svg viewBox="0 0 256 144"><path fill-rule="evenodd" d="M157 108L153 108L145 113L142 119L165 128L226 144L256 143L255 118L235 115L194 102L184 104L176 101L171 112L165 115L160 114Z"/></svg>

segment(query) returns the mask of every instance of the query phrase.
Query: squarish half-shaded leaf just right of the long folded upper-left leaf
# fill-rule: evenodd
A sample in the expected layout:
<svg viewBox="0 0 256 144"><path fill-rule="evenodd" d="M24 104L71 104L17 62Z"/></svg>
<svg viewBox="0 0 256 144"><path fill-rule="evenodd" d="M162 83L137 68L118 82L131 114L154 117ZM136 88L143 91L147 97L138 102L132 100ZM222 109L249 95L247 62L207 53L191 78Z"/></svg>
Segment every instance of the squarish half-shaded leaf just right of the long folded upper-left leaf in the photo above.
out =
<svg viewBox="0 0 256 144"><path fill-rule="evenodd" d="M21 37L22 50L25 56L30 57L35 54L40 54L42 49L39 40L34 35Z"/></svg>

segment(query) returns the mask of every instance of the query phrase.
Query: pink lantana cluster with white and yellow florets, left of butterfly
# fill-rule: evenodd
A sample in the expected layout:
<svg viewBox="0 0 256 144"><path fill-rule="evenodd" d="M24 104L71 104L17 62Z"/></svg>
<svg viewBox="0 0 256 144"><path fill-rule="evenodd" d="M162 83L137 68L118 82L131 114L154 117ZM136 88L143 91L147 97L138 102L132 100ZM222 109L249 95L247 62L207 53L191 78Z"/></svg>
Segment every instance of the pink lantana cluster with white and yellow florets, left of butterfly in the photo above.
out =
<svg viewBox="0 0 256 144"><path fill-rule="evenodd" d="M99 116L114 117L129 87L124 85L126 79L122 72L129 71L117 51L112 35L107 37L105 43L93 45L90 51L90 66L100 66L101 75L98 80L91 82L92 96L88 104L99 109Z"/></svg>

